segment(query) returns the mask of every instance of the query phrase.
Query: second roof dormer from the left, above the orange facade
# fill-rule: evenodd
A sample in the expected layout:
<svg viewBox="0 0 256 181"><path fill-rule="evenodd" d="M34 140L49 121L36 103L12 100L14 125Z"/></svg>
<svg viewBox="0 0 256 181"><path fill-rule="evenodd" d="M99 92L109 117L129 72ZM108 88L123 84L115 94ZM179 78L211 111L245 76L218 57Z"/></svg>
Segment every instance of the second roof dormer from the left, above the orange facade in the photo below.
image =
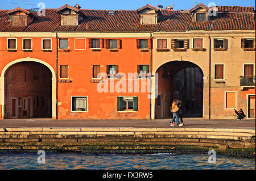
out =
<svg viewBox="0 0 256 181"><path fill-rule="evenodd" d="M56 12L61 16L61 26L77 26L84 19L84 15L80 13L80 6L65 5L57 9Z"/></svg>

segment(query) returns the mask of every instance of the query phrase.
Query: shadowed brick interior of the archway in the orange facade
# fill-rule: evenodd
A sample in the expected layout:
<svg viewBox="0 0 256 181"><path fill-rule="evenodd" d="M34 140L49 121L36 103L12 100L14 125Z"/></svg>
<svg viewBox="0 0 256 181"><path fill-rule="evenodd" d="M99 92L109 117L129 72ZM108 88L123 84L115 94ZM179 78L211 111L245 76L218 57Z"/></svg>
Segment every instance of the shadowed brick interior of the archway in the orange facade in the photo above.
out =
<svg viewBox="0 0 256 181"><path fill-rule="evenodd" d="M19 62L5 73L5 119L52 117L52 73L38 62Z"/></svg>

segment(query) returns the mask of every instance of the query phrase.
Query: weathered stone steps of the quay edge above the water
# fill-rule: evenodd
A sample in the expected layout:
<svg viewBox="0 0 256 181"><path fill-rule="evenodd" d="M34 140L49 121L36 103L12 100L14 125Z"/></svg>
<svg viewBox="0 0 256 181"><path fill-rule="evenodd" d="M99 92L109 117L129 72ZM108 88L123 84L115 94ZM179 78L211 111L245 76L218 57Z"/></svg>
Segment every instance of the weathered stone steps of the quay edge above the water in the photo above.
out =
<svg viewBox="0 0 256 181"><path fill-rule="evenodd" d="M188 153L214 149L221 154L255 157L255 129L0 128L0 150L40 149L82 153ZM234 154L237 149L239 153Z"/></svg>

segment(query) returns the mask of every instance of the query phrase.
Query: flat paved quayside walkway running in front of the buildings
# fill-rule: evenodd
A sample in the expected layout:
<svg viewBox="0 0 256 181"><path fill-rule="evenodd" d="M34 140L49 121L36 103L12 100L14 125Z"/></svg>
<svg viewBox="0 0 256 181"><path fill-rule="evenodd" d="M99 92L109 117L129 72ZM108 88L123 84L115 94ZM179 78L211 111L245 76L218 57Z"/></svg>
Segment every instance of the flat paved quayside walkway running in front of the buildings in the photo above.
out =
<svg viewBox="0 0 256 181"><path fill-rule="evenodd" d="M186 128L243 128L255 130L254 120L205 120L184 118ZM0 128L169 128L170 119L158 120L51 120L51 119L14 119L0 120ZM177 128L177 127L176 127Z"/></svg>

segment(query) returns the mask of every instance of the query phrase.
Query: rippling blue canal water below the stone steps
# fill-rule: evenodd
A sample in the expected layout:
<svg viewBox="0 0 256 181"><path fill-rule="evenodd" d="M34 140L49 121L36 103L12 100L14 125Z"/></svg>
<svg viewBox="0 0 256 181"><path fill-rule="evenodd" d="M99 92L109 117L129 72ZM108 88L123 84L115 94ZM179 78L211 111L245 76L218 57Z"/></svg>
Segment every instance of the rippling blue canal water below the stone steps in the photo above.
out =
<svg viewBox="0 0 256 181"><path fill-rule="evenodd" d="M45 163L38 163L37 153L0 153L0 170L7 169L93 169L93 170L229 170L253 169L254 158L234 158L216 155L216 163L208 154L81 154L46 153ZM42 162L43 159L39 159Z"/></svg>

